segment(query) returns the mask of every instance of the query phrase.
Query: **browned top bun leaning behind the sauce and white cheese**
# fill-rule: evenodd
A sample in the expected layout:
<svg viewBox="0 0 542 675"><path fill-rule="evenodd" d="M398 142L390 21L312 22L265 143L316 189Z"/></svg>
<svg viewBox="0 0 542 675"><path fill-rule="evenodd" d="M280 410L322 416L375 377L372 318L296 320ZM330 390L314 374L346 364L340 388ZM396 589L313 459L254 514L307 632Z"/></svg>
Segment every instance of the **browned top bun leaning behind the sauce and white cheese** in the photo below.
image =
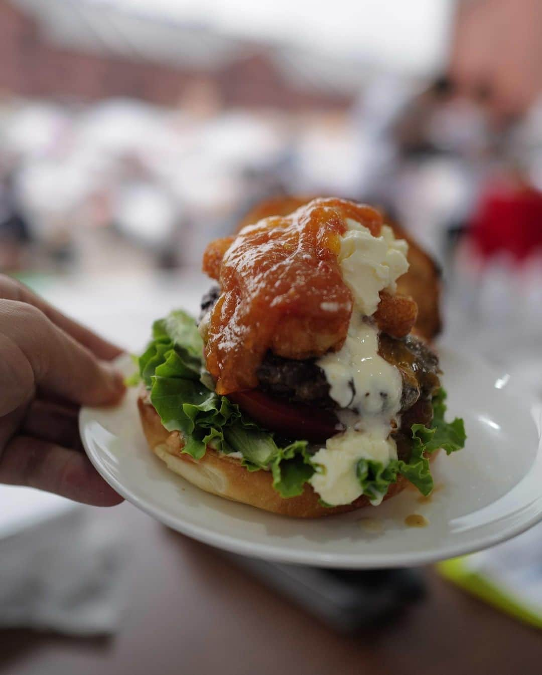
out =
<svg viewBox="0 0 542 675"><path fill-rule="evenodd" d="M288 215L312 199L310 196L280 196L264 200L255 205L239 223L239 228L256 223L271 215ZM397 223L384 218L397 238L408 242L407 273L397 279L397 294L411 296L418 305L418 317L412 330L416 335L433 340L442 329L439 309L441 296L441 279L439 267L416 241ZM401 304L401 309L405 306ZM406 325L405 320L405 325Z"/></svg>

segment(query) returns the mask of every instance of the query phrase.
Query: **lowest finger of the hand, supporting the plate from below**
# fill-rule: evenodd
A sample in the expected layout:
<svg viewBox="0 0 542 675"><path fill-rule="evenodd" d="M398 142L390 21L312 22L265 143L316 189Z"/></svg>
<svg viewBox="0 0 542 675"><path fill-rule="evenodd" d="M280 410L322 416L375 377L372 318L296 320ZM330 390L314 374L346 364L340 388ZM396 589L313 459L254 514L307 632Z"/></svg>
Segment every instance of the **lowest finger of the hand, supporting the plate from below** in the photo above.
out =
<svg viewBox="0 0 542 675"><path fill-rule="evenodd" d="M28 436L15 437L5 448L0 483L35 487L92 506L122 502L86 455Z"/></svg>

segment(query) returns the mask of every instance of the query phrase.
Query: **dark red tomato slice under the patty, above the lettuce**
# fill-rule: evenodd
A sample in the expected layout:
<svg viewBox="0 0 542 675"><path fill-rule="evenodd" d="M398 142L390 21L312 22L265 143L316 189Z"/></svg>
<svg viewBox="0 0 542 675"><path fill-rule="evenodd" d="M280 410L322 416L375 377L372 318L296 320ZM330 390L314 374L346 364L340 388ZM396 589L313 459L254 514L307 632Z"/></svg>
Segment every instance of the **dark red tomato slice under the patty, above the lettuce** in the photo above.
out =
<svg viewBox="0 0 542 675"><path fill-rule="evenodd" d="M265 429L288 438L323 443L337 433L337 417L329 410L277 400L263 391L247 389L228 398Z"/></svg>

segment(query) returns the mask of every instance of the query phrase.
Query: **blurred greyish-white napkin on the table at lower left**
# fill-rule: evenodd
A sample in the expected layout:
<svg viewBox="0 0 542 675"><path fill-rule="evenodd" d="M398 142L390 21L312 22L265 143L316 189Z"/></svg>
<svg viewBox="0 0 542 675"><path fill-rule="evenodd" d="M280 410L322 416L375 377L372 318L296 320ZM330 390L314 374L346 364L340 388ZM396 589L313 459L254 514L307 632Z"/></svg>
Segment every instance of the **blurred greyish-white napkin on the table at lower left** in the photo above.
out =
<svg viewBox="0 0 542 675"><path fill-rule="evenodd" d="M31 507L14 509L23 496ZM0 512L0 626L114 632L127 557L118 520L105 509L6 486L0 486Z"/></svg>

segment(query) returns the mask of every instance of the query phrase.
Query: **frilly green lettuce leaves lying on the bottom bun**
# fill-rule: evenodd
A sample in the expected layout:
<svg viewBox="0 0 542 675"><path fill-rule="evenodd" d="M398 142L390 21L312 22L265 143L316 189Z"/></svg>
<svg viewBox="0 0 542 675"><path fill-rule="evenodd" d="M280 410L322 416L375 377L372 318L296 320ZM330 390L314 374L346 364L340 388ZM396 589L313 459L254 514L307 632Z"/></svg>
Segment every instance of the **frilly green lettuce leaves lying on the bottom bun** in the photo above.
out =
<svg viewBox="0 0 542 675"><path fill-rule="evenodd" d="M303 492L316 470L309 444L302 439L277 439L241 414L226 396L218 396L209 388L211 379L205 371L203 342L194 319L187 313L177 310L155 321L152 340L139 357L139 375L164 427L182 433L182 452L195 460L203 457L207 445L226 454L238 452L247 470L270 470L273 487L282 497ZM363 493L375 503L399 474L428 495L433 489L428 455L437 448L449 454L463 447L463 421L444 420L445 396L440 389L433 400L430 427L413 425L408 462L392 460L384 466L374 460L358 461L355 471Z"/></svg>

